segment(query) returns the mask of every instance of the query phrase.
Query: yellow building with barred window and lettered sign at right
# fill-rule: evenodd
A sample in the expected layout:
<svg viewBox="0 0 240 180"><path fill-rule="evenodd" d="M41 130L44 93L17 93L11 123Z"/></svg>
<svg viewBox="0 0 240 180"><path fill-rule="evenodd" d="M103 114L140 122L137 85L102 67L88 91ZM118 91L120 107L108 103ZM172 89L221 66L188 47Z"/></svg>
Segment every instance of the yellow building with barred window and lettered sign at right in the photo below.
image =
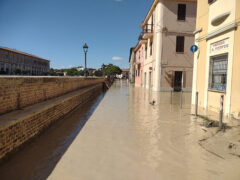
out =
<svg viewBox="0 0 240 180"><path fill-rule="evenodd" d="M240 1L198 1L192 104L219 111L224 95L224 114L240 112Z"/></svg>

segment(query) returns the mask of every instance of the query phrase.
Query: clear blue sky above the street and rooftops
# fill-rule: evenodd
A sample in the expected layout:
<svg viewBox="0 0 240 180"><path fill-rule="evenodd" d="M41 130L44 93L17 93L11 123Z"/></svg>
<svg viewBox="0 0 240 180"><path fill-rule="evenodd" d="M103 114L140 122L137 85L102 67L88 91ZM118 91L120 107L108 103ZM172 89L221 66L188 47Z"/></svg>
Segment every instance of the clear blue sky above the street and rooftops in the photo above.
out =
<svg viewBox="0 0 240 180"><path fill-rule="evenodd" d="M0 46L51 61L53 68L113 63L128 67L129 49L152 0L0 0Z"/></svg>

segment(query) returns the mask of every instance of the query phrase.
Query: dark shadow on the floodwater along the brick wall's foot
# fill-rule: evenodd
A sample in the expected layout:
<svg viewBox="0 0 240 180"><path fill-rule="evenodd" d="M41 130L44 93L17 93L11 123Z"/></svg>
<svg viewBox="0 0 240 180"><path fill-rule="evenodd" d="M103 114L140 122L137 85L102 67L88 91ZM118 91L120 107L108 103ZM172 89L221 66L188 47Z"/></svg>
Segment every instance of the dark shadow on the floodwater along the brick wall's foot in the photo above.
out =
<svg viewBox="0 0 240 180"><path fill-rule="evenodd" d="M47 179L105 96L80 105L0 166L0 179Z"/></svg>

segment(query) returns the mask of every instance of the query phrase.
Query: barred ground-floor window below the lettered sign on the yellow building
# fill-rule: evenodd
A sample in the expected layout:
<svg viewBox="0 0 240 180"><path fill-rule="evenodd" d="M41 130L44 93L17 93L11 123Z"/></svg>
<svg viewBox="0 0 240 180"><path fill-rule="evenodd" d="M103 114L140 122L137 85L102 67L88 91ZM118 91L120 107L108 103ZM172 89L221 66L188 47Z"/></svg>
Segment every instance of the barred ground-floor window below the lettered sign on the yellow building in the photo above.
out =
<svg viewBox="0 0 240 180"><path fill-rule="evenodd" d="M215 56L210 59L209 89L226 91L228 55Z"/></svg>

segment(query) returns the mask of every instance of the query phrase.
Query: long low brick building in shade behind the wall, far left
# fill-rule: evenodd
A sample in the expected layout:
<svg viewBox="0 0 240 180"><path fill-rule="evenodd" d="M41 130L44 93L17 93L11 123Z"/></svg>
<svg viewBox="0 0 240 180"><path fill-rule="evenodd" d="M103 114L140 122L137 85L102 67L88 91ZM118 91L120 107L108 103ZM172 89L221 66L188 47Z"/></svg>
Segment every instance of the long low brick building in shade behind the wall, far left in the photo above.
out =
<svg viewBox="0 0 240 180"><path fill-rule="evenodd" d="M0 47L0 73L5 75L45 75L50 61L14 49Z"/></svg>

